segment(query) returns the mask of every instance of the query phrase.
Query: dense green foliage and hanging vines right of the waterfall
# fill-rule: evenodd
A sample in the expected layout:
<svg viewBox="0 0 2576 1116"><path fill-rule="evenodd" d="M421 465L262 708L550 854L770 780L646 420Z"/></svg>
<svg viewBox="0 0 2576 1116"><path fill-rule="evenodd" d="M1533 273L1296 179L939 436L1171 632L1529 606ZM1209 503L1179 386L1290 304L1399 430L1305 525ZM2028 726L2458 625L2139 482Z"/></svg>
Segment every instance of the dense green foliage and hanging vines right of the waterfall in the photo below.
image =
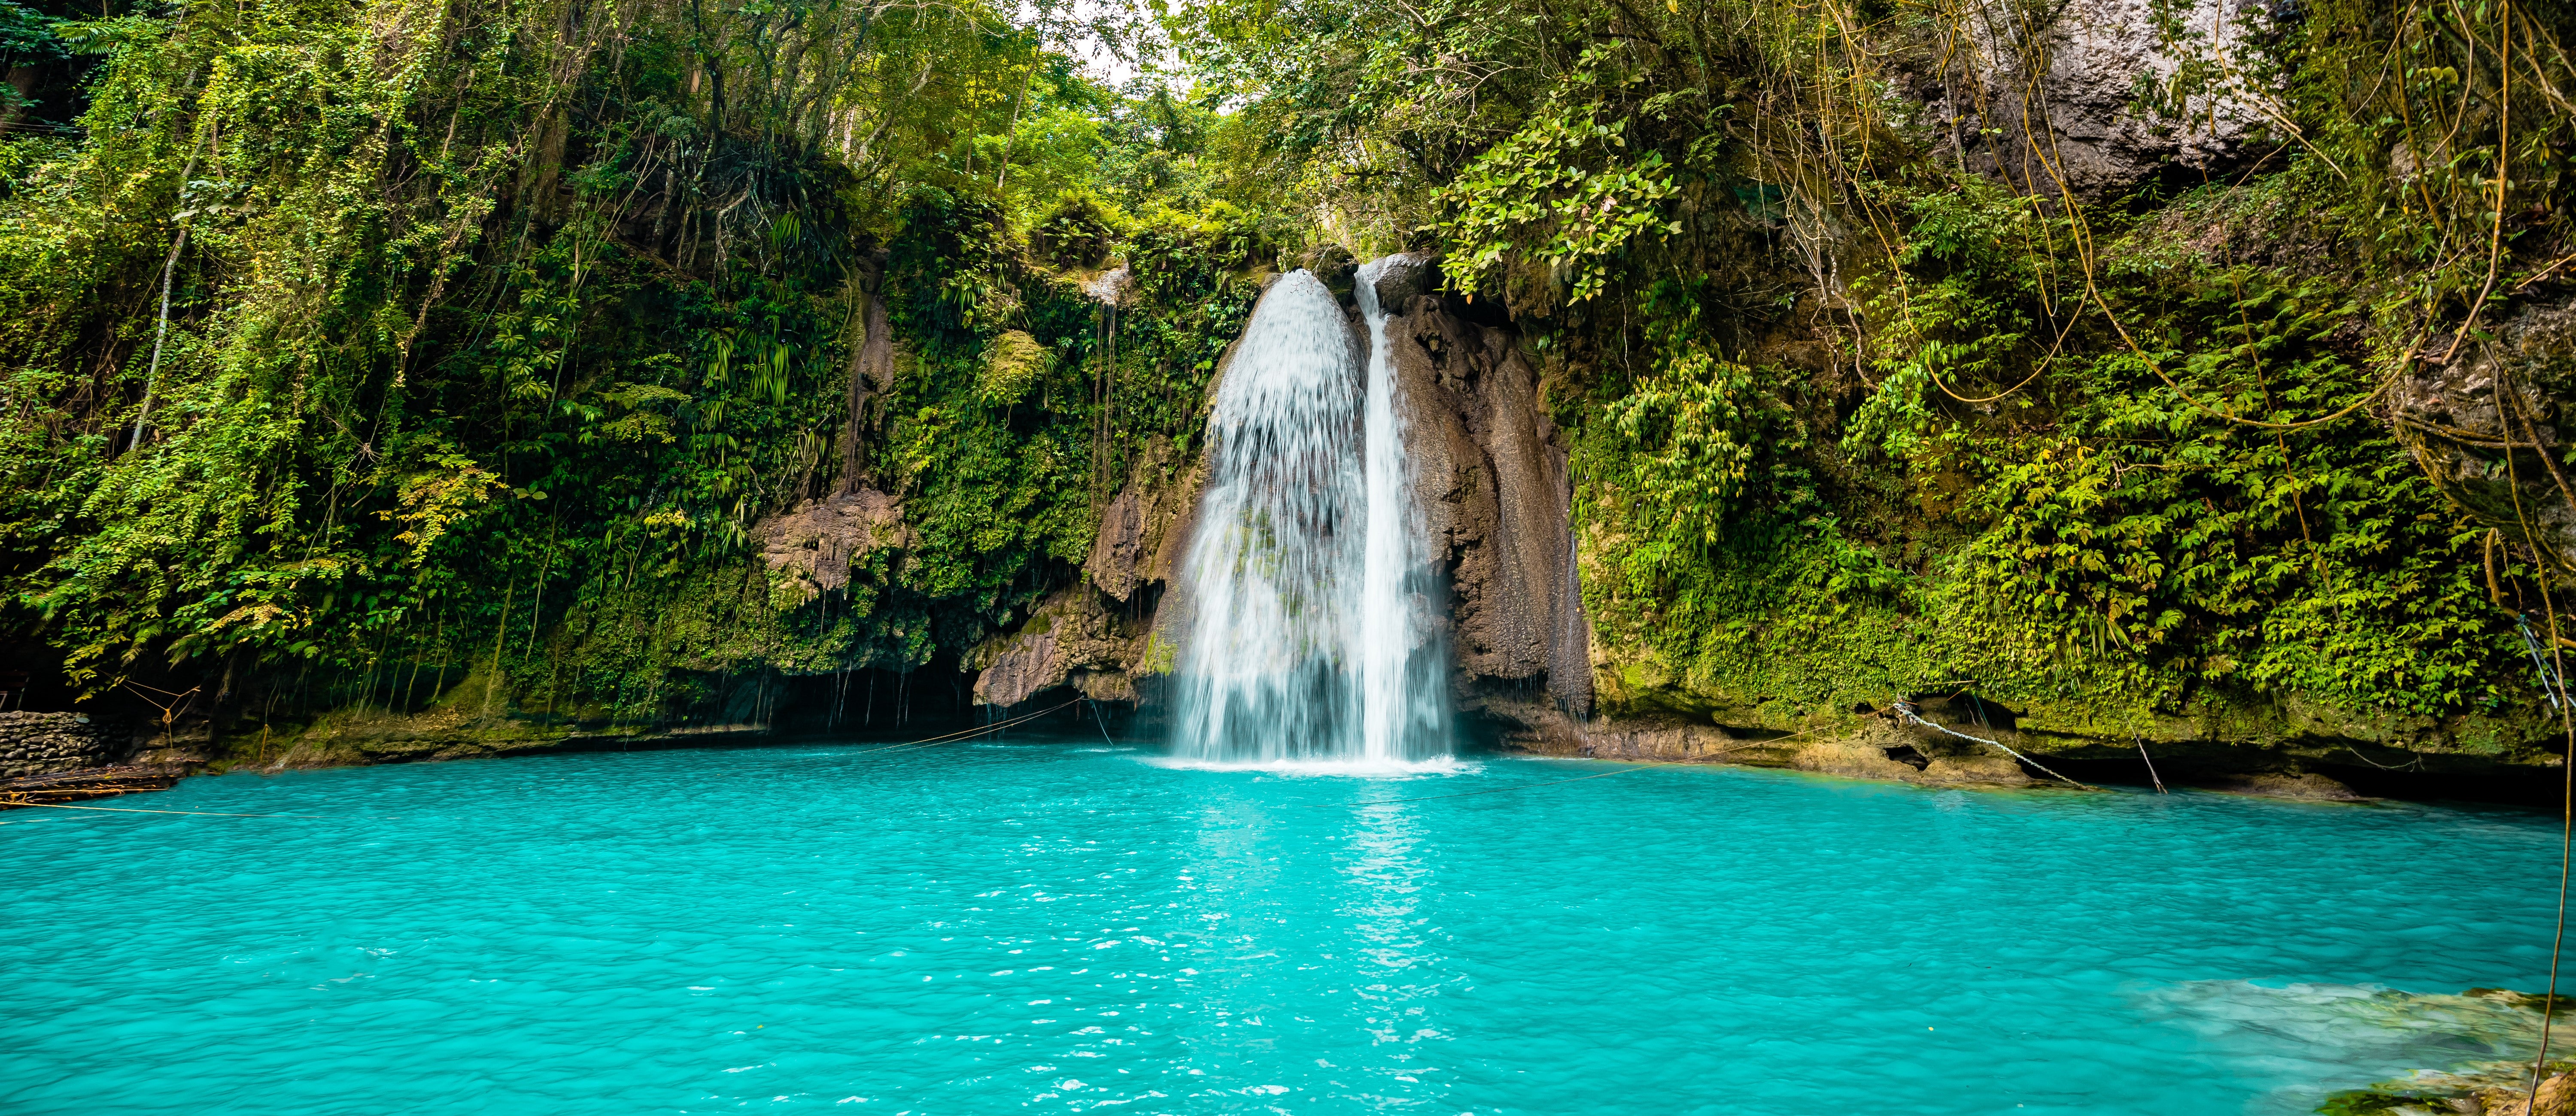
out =
<svg viewBox="0 0 2576 1116"><path fill-rule="evenodd" d="M2566 291L2566 13L2156 10L2130 111L2254 124L2125 196L2025 131L2071 5L1218 5L1190 41L1296 204L1443 250L1551 358L1613 701L2527 704L2491 523L2372 402Z"/></svg>

